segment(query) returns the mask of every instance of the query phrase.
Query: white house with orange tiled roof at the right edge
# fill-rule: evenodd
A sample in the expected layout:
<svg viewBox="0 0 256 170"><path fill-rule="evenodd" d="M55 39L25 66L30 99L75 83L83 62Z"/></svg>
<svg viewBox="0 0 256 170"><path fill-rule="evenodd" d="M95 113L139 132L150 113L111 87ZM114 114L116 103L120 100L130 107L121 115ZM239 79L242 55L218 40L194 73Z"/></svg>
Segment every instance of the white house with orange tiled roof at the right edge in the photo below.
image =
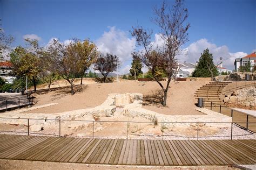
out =
<svg viewBox="0 0 256 170"><path fill-rule="evenodd" d="M256 65L256 52L246 55L243 58L235 59L234 61L235 70L238 70L240 66L245 66L248 62L251 63L252 68L254 65Z"/></svg>

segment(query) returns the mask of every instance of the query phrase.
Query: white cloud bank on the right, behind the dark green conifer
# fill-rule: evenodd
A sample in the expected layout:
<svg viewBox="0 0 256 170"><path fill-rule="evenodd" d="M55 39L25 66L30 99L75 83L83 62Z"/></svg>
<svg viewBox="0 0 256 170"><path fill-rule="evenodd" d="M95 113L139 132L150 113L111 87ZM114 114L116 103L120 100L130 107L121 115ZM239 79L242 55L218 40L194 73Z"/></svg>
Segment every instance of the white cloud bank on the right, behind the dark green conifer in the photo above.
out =
<svg viewBox="0 0 256 170"><path fill-rule="evenodd" d="M199 60L201 53L204 52L204 49L208 48L210 53L213 54L213 61L219 61L219 58L222 57L224 59L223 67L233 70L234 69L234 60L236 58L241 58L246 56L247 53L244 52L235 52L231 53L227 46L217 46L207 39L200 39L196 42L190 44L187 48L183 50L183 55L179 55L179 61L183 62L193 62Z"/></svg>

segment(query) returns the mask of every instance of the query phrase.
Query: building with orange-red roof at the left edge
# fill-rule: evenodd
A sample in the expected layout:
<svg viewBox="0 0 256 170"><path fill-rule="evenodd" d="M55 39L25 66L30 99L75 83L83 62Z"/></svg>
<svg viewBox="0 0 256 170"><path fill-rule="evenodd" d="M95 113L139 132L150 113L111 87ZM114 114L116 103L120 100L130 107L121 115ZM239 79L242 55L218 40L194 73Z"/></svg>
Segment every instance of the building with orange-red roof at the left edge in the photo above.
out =
<svg viewBox="0 0 256 170"><path fill-rule="evenodd" d="M12 83L15 76L11 74L12 64L8 61L0 62L0 77L4 78L8 83Z"/></svg>

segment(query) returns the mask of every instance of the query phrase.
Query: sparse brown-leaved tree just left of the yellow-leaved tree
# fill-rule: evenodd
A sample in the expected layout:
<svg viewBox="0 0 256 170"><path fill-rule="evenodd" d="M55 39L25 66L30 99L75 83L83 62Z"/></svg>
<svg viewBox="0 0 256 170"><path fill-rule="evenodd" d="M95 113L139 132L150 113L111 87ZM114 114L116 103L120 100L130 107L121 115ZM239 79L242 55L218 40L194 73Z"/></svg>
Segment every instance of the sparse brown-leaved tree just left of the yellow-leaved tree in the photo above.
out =
<svg viewBox="0 0 256 170"><path fill-rule="evenodd" d="M80 73L79 58L77 57L76 49L73 48L75 42L65 45L59 40L53 39L53 43L48 47L50 61L55 67L57 74L63 77L70 83L71 95L74 94L73 81Z"/></svg>

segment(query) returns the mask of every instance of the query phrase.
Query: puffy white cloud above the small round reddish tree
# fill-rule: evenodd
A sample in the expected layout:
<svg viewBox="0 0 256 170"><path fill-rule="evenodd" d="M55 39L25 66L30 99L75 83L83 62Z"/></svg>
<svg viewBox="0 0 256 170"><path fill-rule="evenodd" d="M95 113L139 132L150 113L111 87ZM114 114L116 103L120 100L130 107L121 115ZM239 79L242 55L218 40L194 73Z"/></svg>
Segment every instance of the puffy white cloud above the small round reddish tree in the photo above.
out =
<svg viewBox="0 0 256 170"><path fill-rule="evenodd" d="M127 32L109 27L102 37L96 40L99 51L117 55L120 61L131 59L131 52L135 48L136 40L129 38Z"/></svg>

